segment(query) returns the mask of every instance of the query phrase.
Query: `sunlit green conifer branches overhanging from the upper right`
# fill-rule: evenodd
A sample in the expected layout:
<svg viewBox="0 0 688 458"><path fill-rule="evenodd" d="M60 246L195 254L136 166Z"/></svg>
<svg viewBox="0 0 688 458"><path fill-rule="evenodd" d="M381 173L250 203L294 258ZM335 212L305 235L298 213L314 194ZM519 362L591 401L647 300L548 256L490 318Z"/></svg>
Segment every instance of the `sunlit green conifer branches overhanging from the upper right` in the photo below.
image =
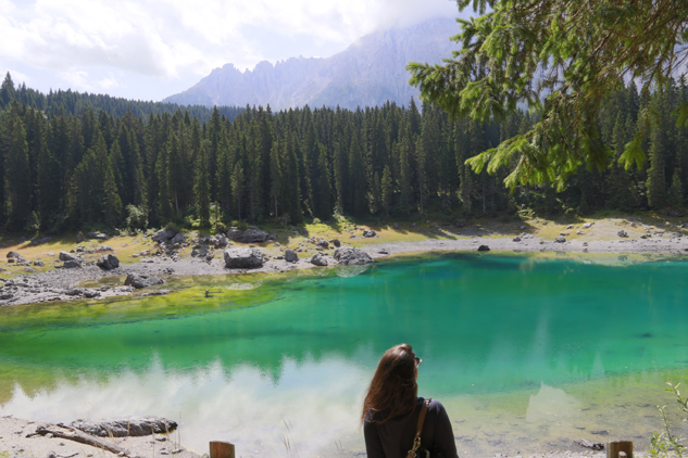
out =
<svg viewBox="0 0 688 458"><path fill-rule="evenodd" d="M470 157L476 173L506 168L504 182L555 183L561 190L581 164L606 169L613 158L641 169L650 132L670 115L652 104L672 77L683 80L688 56L688 3L675 0L458 0L479 17L458 20L461 51L442 65L411 63L422 99L453 118L503 120L528 105L526 132ZM489 12L486 12L489 8ZM640 84L638 123L623 145L599 130L604 101ZM688 104L676 106L684 125ZM650 151L652 155L652 151ZM655 179L654 179L655 180Z"/></svg>

